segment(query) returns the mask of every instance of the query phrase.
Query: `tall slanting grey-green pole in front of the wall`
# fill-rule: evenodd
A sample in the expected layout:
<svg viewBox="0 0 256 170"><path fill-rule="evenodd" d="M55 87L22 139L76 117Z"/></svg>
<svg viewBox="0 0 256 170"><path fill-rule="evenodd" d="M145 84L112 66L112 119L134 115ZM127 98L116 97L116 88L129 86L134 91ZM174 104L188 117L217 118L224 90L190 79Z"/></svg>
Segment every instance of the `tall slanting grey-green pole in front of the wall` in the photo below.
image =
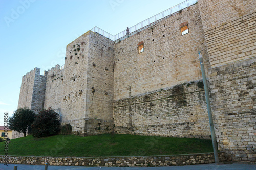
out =
<svg viewBox="0 0 256 170"><path fill-rule="evenodd" d="M208 116L209 116L209 122L210 122L210 134L211 134L212 146L214 147L214 159L215 159L215 163L219 165L220 163L219 163L219 157L218 157L217 140L216 140L216 135L214 131L214 121L212 120L208 85L207 85L205 71L204 71L204 62L203 62L201 51L198 51L198 54L199 54L199 61L201 65L202 77L204 82L204 92L205 92L207 110L208 110Z"/></svg>

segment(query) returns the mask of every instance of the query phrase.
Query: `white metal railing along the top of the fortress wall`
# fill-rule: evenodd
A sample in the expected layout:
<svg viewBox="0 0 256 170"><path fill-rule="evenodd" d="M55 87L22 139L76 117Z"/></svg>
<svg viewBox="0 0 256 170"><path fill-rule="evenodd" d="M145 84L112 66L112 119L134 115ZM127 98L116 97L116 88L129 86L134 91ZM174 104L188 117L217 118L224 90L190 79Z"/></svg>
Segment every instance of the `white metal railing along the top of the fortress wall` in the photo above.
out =
<svg viewBox="0 0 256 170"><path fill-rule="evenodd" d="M136 32L136 31L141 31L143 29L146 29L146 28L148 28L148 26L154 25L154 23L157 23L158 21L164 19L165 17L167 17L169 15L172 15L174 13L177 13L180 10L182 10L184 8L187 8L190 5L193 5L195 3L197 3L196 0L183 1L182 3L180 3L180 4L178 4L174 7L171 7L171 8L169 8L169 9L167 9L167 10L165 10L165 11L159 13L159 14L156 14L155 16L152 16L152 17L136 24L135 26L130 27L129 28L129 32L130 32L129 34L131 34L133 32ZM124 31L122 31L122 32L120 32L116 35L112 35L112 34L106 32L106 31L104 31L104 30L102 30L102 29L100 29L99 27L96 26L96 27L92 28L91 31L97 32L97 33L99 33L99 34L101 34L101 35L103 35L103 36L105 36L105 37L107 37L107 38L109 38L113 41L117 41L120 38L126 36L126 30L124 30Z"/></svg>

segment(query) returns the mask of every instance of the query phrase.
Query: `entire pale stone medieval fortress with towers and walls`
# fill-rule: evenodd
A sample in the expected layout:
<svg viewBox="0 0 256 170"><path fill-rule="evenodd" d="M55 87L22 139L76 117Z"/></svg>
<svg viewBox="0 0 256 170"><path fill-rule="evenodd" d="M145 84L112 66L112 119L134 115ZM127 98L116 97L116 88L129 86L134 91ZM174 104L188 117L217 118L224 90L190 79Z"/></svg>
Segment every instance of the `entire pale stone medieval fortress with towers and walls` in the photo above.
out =
<svg viewBox="0 0 256 170"><path fill-rule="evenodd" d="M209 139L201 51L218 149L255 162L255 12L255 0L199 0L114 40L90 30L67 45L63 68L23 76L18 107L52 106L82 136Z"/></svg>

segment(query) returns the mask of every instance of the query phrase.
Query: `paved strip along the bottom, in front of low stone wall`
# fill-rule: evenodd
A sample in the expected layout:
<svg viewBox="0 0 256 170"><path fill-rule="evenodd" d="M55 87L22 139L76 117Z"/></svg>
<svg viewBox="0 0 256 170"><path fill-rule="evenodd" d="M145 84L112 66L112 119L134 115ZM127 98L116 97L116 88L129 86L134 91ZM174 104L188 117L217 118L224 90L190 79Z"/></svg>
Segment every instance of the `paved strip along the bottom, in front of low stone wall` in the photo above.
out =
<svg viewBox="0 0 256 170"><path fill-rule="evenodd" d="M18 170L44 170L44 165L21 165L21 164L8 164L5 166L4 164L0 164L0 170L11 170L14 166L18 166ZM48 166L48 170L56 170L56 169L102 169L102 170L167 170L167 169L175 169L175 170L207 170L207 169L222 169L222 170L251 170L256 169L256 164L242 164L242 163L228 163L228 164L200 164L200 165L187 165L187 166L165 166L165 167L84 167L84 166Z"/></svg>

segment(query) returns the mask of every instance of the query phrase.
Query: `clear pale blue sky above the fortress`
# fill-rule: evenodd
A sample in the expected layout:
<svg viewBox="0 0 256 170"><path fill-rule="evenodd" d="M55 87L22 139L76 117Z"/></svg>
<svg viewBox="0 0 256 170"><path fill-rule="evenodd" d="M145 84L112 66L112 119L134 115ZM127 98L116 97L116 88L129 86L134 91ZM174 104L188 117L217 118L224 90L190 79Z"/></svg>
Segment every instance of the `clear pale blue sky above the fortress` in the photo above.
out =
<svg viewBox="0 0 256 170"><path fill-rule="evenodd" d="M112 35L184 0L0 0L0 126L22 76L65 63L66 45L97 26Z"/></svg>

